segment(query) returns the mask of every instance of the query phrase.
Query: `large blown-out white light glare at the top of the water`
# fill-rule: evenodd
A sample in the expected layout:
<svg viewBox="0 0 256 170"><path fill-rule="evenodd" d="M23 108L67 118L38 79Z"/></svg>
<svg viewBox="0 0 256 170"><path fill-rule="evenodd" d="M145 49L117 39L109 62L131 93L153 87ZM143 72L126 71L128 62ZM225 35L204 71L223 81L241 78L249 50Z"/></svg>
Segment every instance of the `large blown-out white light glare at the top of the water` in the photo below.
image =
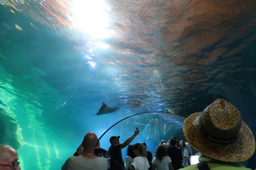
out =
<svg viewBox="0 0 256 170"><path fill-rule="evenodd" d="M73 26L95 38L106 38L109 36L107 10L103 0L74 0Z"/></svg>

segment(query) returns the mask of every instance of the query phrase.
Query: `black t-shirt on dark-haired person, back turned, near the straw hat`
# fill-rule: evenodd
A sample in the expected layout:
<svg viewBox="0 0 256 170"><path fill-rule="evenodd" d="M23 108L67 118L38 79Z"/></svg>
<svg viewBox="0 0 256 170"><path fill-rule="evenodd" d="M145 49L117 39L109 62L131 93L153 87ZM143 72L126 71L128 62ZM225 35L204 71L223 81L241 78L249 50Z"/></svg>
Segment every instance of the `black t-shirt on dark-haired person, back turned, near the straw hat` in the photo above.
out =
<svg viewBox="0 0 256 170"><path fill-rule="evenodd" d="M174 170L182 168L181 160L183 160L182 152L176 146L167 148L167 154L172 160L172 166Z"/></svg>

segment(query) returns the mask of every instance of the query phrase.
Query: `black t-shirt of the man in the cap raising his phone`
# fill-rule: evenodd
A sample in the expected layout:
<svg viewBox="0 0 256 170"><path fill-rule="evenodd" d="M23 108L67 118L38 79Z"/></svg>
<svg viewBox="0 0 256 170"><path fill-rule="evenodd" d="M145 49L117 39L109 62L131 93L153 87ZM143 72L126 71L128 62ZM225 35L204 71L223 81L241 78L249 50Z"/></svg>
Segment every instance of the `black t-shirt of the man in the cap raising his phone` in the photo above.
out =
<svg viewBox="0 0 256 170"><path fill-rule="evenodd" d="M111 157L110 159L110 169L119 170L120 166L123 165L122 152L119 150L121 144L111 145L108 148L108 153ZM115 161L116 160L116 161Z"/></svg>

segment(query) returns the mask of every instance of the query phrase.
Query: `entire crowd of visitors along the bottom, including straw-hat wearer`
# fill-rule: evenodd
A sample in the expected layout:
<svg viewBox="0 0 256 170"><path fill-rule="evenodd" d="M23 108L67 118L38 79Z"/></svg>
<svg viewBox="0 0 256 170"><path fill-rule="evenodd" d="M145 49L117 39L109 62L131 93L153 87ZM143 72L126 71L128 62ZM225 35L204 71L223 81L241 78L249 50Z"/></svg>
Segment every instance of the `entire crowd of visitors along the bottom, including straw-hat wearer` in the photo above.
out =
<svg viewBox="0 0 256 170"><path fill-rule="evenodd" d="M183 122L187 139L172 136L156 147L154 158L146 143L130 144L140 133L139 129L119 142L120 136L109 139L108 151L100 147L97 135L85 134L73 156L62 165L62 170L251 170L240 162L249 159L255 151L251 129L242 121L240 112L229 102L217 99L202 112L191 114ZM127 147L126 165L121 150ZM191 165L191 155L200 153L199 163ZM0 145L0 170L20 170L15 149Z"/></svg>

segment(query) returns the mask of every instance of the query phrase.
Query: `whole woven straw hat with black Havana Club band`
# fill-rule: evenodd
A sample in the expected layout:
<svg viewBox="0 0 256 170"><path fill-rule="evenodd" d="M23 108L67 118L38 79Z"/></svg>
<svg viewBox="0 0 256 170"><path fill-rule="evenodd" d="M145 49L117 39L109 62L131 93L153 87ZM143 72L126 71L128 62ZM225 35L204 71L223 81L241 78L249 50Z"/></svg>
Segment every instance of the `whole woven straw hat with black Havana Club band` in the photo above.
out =
<svg viewBox="0 0 256 170"><path fill-rule="evenodd" d="M183 133L197 151L221 161L245 161L255 150L251 129L242 121L240 112L224 99L188 116Z"/></svg>

